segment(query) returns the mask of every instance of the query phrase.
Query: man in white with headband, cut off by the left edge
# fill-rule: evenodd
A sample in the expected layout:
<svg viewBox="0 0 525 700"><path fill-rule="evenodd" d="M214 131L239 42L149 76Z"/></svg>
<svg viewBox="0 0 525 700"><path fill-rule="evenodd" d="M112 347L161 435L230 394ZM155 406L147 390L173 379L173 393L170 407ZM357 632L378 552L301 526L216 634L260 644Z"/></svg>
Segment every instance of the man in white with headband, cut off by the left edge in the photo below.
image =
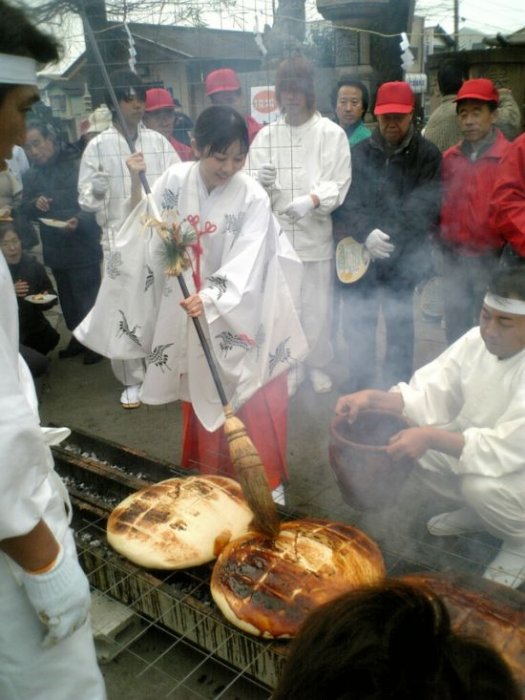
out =
<svg viewBox="0 0 525 700"><path fill-rule="evenodd" d="M16 31L15 31L16 28ZM38 100L37 61L57 43L0 0L0 164L25 140ZM71 506L40 428L33 381L18 354L18 310L0 256L0 698L104 700L88 621L89 583L69 528ZM47 437L46 437L47 436Z"/></svg>

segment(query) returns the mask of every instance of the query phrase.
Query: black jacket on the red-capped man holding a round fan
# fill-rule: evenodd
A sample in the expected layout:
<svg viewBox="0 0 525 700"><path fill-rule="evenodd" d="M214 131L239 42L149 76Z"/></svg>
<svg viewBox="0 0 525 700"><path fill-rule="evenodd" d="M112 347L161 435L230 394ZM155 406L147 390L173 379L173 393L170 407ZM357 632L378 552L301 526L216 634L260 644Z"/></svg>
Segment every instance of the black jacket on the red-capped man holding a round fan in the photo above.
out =
<svg viewBox="0 0 525 700"><path fill-rule="evenodd" d="M388 157L379 131L352 149L352 184L333 214L336 239L364 242L375 228L395 250L367 272L391 286L415 285L430 270L430 235L441 207L441 153L420 134Z"/></svg>

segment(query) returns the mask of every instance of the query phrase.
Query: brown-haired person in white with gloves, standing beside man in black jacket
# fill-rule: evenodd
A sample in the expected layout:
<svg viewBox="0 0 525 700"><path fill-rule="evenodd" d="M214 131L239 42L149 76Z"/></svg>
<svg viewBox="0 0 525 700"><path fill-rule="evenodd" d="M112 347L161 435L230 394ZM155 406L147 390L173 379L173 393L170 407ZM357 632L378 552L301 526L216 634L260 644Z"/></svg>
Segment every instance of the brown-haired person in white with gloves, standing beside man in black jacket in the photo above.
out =
<svg viewBox="0 0 525 700"><path fill-rule="evenodd" d="M247 167L269 193L274 213L303 262L300 313L310 347L305 364L314 390L324 393L332 388L325 371L333 355L330 214L342 204L350 187L350 148L343 129L315 109L308 61L283 61L275 82L282 116L257 134ZM290 370L290 395L304 376L301 364Z"/></svg>

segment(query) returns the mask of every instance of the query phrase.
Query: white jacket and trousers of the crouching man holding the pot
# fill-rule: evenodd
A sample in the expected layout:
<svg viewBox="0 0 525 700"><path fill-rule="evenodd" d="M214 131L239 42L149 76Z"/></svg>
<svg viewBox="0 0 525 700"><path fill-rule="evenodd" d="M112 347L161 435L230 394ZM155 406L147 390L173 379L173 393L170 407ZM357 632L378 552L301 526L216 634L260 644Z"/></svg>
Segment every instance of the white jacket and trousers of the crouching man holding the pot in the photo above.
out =
<svg viewBox="0 0 525 700"><path fill-rule="evenodd" d="M399 384L405 416L417 425L462 433L459 459L429 450L419 460L427 483L466 502L501 539L525 540L525 350L505 360L473 328L409 384Z"/></svg>

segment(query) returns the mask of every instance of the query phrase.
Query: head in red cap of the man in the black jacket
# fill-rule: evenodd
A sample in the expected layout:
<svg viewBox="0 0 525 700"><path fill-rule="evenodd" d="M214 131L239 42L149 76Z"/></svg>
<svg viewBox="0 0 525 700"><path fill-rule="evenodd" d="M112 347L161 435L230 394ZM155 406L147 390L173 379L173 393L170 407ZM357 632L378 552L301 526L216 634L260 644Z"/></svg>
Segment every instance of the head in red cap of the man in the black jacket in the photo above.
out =
<svg viewBox="0 0 525 700"><path fill-rule="evenodd" d="M410 130L416 98L408 83L383 83L376 95L374 114L381 136L390 146L398 146Z"/></svg>

